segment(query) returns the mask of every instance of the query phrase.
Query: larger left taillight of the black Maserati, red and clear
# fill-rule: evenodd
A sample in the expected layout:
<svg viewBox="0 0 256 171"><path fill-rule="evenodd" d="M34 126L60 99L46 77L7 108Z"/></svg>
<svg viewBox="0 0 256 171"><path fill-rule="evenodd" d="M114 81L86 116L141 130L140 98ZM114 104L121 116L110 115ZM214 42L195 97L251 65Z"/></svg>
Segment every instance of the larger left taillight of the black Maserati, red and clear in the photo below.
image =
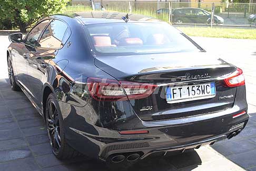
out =
<svg viewBox="0 0 256 171"><path fill-rule="evenodd" d="M150 96L156 85L135 82L116 81L112 79L92 78L87 79L88 89L96 100L119 101L140 99Z"/></svg>

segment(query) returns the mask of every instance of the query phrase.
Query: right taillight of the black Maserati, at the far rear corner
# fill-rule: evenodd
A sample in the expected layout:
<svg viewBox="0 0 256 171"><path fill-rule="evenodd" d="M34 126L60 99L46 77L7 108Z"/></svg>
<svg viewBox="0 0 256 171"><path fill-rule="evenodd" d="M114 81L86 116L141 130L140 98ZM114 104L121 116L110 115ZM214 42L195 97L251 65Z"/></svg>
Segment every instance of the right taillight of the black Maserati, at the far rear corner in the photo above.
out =
<svg viewBox="0 0 256 171"><path fill-rule="evenodd" d="M238 68L237 71L229 75L228 78L225 78L224 82L228 87L245 85L245 79L242 69Z"/></svg>

